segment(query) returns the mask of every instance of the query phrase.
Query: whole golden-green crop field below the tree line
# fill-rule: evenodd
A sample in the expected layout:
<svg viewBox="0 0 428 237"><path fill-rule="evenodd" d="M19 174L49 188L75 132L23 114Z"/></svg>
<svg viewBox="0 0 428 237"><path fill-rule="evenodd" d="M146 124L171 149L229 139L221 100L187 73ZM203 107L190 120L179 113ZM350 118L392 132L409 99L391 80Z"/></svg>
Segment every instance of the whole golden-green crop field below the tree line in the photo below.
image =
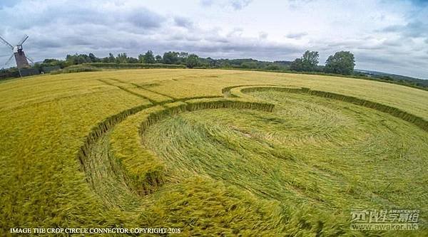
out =
<svg viewBox="0 0 428 237"><path fill-rule="evenodd" d="M302 87L310 90L296 93ZM422 90L151 69L9 80L0 95L1 236L56 226L175 227L181 236L427 234ZM421 230L352 231L350 210L358 208L420 209Z"/></svg>

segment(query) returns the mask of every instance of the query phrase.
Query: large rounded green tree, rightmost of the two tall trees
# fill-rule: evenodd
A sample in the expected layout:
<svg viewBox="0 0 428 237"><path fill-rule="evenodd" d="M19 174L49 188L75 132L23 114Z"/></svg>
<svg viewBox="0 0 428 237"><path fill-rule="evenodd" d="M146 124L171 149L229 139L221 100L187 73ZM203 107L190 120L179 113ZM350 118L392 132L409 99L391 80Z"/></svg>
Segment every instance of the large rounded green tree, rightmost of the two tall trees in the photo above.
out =
<svg viewBox="0 0 428 237"><path fill-rule="evenodd" d="M326 73L351 75L355 67L355 58L350 51L340 51L325 61Z"/></svg>

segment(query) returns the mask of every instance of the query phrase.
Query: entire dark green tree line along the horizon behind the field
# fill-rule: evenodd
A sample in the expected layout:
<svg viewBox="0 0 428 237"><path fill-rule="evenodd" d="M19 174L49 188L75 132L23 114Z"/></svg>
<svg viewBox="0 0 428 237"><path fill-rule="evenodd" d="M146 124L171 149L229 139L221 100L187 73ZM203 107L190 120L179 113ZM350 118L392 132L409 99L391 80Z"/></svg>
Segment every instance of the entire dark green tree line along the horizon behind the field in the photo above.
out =
<svg viewBox="0 0 428 237"><path fill-rule="evenodd" d="M409 85L414 87L428 87L428 80L421 80L417 78L403 77L391 74L371 74L362 71L354 70L355 57L349 51L340 51L332 56L329 56L325 61L325 65L318 65L319 53L317 51L305 51L300 58L295 60L277 60L273 62L260 61L253 58L202 58L195 53L175 52L168 51L163 55L156 55L153 51L149 50L146 53L141 53L137 58L128 56L127 53L118 53L116 56L113 53L108 53L107 57L98 58L93 53L89 54L74 54L67 55L64 60L58 59L45 59L41 63L36 63L33 67L38 68L39 71L45 72L49 67L67 68L71 65L79 65L83 63L121 63L121 67L126 67L126 64L131 63L129 66L137 63L144 63L145 65L153 65L156 68L168 68L168 65L183 65L187 68L236 68L248 70L268 70L268 71L294 71L302 73L316 73L316 74L338 74L350 75L357 78L368 78L374 80L382 80L400 85ZM99 65L98 65L99 66ZM149 66L150 67L150 66ZM57 70L57 69L53 69ZM0 69L0 80L5 78L19 77L19 72L16 68Z"/></svg>

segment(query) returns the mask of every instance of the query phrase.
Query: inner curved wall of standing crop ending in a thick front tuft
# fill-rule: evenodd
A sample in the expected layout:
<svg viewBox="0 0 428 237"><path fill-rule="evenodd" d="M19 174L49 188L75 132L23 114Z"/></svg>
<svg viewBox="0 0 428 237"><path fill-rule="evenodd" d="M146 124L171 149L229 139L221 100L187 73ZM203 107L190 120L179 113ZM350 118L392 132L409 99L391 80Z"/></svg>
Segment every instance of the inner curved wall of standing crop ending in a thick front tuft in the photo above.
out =
<svg viewBox="0 0 428 237"><path fill-rule="evenodd" d="M218 109L218 108L235 108L249 110L263 110L271 112L274 105L266 102L248 102L244 100L230 100L224 98L215 99L194 99L185 102L173 102L163 105L161 109L151 110L147 115L143 115L143 121L138 125L126 124L127 129L131 131L127 134L134 137L122 137L115 140L113 144L113 157L121 159L124 174L128 186L140 195L150 194L158 186L161 186L164 179L165 167L156 155L151 154L141 147L141 136L148 127L159 122L165 117L177 115L181 112ZM116 130L115 130L116 132ZM114 135L113 135L114 136ZM139 136L139 137L135 137ZM138 139L139 138L139 139ZM126 139L124 141L123 139ZM136 154L137 153L137 154ZM137 162L136 162L137 161Z"/></svg>

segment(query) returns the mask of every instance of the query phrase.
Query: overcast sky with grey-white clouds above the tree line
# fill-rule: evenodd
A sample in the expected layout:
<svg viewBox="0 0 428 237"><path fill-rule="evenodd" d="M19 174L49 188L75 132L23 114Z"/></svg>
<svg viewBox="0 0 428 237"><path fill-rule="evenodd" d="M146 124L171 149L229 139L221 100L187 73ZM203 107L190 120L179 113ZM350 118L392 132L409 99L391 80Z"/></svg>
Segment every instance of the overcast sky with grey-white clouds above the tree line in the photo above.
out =
<svg viewBox="0 0 428 237"><path fill-rule="evenodd" d="M355 54L356 68L428 79L425 0L0 1L0 35L34 60L148 49L202 57L294 60ZM0 63L9 56L0 46ZM0 66L1 67L1 66Z"/></svg>

